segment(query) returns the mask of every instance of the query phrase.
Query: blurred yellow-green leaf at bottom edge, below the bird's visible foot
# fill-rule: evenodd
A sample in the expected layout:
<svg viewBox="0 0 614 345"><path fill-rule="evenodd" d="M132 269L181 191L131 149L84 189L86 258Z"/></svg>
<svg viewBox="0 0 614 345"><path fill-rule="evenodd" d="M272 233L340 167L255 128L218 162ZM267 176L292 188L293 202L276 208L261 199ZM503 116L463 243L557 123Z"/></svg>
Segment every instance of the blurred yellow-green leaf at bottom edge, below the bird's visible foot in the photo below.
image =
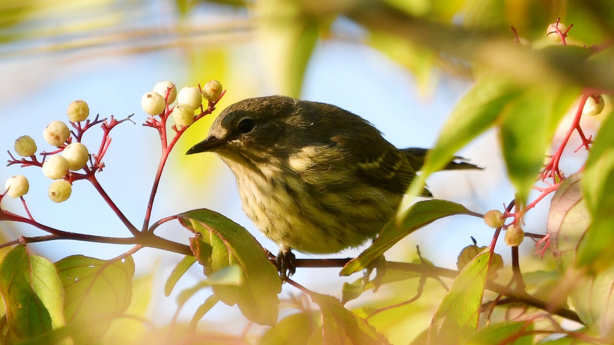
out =
<svg viewBox="0 0 614 345"><path fill-rule="evenodd" d="M284 317L265 331L258 340L262 345L307 344L309 337L317 330L314 313L299 312Z"/></svg>

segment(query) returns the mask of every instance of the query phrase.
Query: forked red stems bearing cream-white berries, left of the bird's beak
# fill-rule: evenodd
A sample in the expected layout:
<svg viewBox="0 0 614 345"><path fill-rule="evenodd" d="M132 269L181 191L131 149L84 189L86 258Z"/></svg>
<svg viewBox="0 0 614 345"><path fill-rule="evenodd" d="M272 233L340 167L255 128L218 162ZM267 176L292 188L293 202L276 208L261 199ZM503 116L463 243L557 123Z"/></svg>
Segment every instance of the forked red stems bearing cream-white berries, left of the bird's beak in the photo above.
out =
<svg viewBox="0 0 614 345"><path fill-rule="evenodd" d="M160 82L155 85L153 91L142 96L141 106L150 115L144 125L158 130L163 147L147 217L149 217L150 205L153 203L153 195L155 195L161 170L170 150L188 126L215 109L214 106L222 95L222 84L217 80L211 80L203 88L200 88L200 85L199 87L184 87L179 90L179 93L177 93L173 82ZM203 107L203 98L208 101L206 108ZM175 99L177 99L176 106L170 107ZM200 110L198 114L195 114L196 109ZM54 180L49 185L47 195L55 203L68 200L71 196L72 184L76 180L85 179L89 180L107 203L115 209L114 203L98 184L95 174L104 168L103 157L109 148L109 144L111 144L109 133L119 123L130 120L132 115L123 120L116 120L112 115L108 120L96 115L93 120L88 120L89 115L90 108L85 101L72 102L66 110L66 116L69 120L68 125L65 122L55 120L50 122L42 133L44 141L55 147L52 151L42 151L37 157L36 141L30 136L21 136L15 140L14 145L16 155L21 158L15 158L16 156L9 151L8 165L20 164L22 167L38 166L41 168L45 176ZM170 115L173 116L176 123L176 126L173 126L176 133L168 142L166 120ZM94 153L90 152L81 141L85 132L95 125L101 125L103 135L98 151ZM2 196L8 195L12 198L21 198L23 201L23 196L29 190L29 182L25 176L15 175L7 179L5 188L6 192L0 194L0 200L2 200ZM25 206L25 201L23 201L23 204ZM121 215L119 210L116 209L115 211ZM127 223L127 220L125 222ZM130 228L134 232L134 227Z"/></svg>

